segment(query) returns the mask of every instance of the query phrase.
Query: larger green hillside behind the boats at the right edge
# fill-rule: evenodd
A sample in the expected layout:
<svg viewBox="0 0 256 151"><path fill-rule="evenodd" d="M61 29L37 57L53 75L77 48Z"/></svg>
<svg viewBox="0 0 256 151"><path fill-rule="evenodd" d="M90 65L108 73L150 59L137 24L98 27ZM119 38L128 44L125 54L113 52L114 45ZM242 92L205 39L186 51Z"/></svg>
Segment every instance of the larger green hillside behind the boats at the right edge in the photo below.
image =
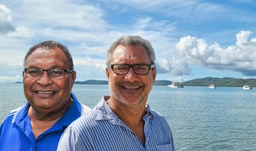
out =
<svg viewBox="0 0 256 151"><path fill-rule="evenodd" d="M214 77L206 77L206 78L196 78L194 80L185 81L182 83L184 86L209 86L210 84L215 84L216 86L226 86L226 87L238 87L238 86L256 86L256 79L254 78L214 78Z"/></svg>

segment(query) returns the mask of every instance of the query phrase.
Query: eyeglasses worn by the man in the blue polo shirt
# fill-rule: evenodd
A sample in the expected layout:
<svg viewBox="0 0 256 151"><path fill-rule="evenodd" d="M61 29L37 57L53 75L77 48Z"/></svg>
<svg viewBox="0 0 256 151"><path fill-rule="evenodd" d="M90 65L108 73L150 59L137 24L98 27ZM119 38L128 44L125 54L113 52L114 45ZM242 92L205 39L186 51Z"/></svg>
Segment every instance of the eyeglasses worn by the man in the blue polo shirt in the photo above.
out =
<svg viewBox="0 0 256 151"><path fill-rule="evenodd" d="M40 78L43 76L43 71L47 72L49 78L63 78L65 73L72 73L72 70L52 68L49 70L43 70L41 68L25 68L25 73L30 78Z"/></svg>

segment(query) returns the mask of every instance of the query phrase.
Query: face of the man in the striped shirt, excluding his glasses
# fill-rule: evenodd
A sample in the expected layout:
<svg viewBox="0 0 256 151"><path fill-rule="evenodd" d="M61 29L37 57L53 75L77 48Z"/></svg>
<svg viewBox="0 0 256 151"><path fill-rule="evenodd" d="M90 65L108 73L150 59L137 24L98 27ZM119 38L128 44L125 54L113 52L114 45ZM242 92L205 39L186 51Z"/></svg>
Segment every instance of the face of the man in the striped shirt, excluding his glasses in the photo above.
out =
<svg viewBox="0 0 256 151"><path fill-rule="evenodd" d="M142 45L119 45L114 50L111 64L151 64L148 52ZM111 95L126 106L146 103L156 77L156 69L146 75L137 75L130 68L127 74L114 74L106 68Z"/></svg>

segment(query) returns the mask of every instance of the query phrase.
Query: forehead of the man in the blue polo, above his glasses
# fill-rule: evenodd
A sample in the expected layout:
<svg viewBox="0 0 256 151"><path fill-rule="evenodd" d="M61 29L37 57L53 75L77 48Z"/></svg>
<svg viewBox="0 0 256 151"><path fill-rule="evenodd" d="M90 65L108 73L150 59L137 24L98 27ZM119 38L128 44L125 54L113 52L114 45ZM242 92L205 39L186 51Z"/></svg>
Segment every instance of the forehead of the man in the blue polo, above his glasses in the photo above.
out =
<svg viewBox="0 0 256 151"><path fill-rule="evenodd" d="M68 58L60 48L37 48L34 50L25 61L25 67L40 67L40 66L67 66ZM63 66L64 67L64 66Z"/></svg>

